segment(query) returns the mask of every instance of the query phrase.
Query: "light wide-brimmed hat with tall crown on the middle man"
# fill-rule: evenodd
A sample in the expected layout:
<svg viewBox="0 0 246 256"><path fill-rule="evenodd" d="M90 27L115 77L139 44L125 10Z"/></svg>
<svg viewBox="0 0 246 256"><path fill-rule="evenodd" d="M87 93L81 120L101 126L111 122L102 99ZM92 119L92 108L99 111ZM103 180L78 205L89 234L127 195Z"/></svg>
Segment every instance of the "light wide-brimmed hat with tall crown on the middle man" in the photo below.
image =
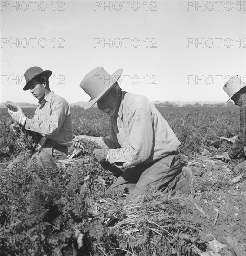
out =
<svg viewBox="0 0 246 256"><path fill-rule="evenodd" d="M91 70L80 83L80 87L91 97L86 102L84 109L91 108L99 101L118 81L123 69L118 69L110 75L103 67Z"/></svg>

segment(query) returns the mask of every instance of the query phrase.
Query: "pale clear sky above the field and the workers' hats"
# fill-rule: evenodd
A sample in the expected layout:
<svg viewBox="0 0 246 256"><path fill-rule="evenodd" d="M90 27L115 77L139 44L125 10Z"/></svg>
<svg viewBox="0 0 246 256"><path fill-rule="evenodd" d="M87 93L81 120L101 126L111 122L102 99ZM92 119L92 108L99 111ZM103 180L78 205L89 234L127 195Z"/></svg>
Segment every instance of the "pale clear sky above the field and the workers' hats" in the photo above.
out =
<svg viewBox="0 0 246 256"><path fill-rule="evenodd" d="M225 81L246 81L243 0L2 0L0 14L1 101L37 103L22 90L32 66L70 103L89 100L79 83L100 66L151 101L227 101Z"/></svg>

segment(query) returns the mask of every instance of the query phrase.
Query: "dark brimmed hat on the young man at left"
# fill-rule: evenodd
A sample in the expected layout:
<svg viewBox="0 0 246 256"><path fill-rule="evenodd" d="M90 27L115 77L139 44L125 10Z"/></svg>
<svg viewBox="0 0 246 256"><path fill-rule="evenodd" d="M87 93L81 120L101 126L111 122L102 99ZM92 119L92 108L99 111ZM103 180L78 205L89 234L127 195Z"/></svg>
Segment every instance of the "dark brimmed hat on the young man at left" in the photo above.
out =
<svg viewBox="0 0 246 256"><path fill-rule="evenodd" d="M30 85L32 84L33 80L37 80L40 76L45 76L49 78L52 74L50 70L43 70L41 67L30 67L24 73L24 77L26 79L26 85L23 88L23 91L27 91L30 89Z"/></svg>

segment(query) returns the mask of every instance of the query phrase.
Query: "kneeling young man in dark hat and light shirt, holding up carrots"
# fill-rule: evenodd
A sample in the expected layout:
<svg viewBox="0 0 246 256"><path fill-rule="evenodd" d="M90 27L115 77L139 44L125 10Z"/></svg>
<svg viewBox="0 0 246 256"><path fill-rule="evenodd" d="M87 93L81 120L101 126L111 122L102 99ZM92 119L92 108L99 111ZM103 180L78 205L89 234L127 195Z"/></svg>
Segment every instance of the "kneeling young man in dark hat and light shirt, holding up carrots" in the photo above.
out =
<svg viewBox="0 0 246 256"><path fill-rule="evenodd" d="M19 106L17 112L8 110L13 121L27 131L40 135L41 148L37 149L31 160L42 167L47 166L54 158L65 158L73 136L70 106L64 98L50 90L51 74L51 71L43 71L40 67L30 67L24 74L26 85L23 90L30 89L33 96L39 100L32 119L28 118ZM12 168L21 158L17 157L7 168Z"/></svg>

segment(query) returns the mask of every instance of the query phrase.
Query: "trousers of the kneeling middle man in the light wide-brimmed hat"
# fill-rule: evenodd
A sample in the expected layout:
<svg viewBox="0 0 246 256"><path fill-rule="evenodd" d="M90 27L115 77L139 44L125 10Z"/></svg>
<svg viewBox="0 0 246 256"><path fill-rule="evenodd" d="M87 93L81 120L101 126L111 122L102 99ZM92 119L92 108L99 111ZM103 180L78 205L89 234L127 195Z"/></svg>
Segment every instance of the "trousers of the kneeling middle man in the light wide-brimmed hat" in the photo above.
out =
<svg viewBox="0 0 246 256"><path fill-rule="evenodd" d="M171 191L171 195L187 193L188 182L181 174L179 154L168 155L148 165L139 164L128 168L109 190L115 194L122 194L123 187L127 187L130 193L126 196L126 201L133 202L152 186L157 186L165 193Z"/></svg>

